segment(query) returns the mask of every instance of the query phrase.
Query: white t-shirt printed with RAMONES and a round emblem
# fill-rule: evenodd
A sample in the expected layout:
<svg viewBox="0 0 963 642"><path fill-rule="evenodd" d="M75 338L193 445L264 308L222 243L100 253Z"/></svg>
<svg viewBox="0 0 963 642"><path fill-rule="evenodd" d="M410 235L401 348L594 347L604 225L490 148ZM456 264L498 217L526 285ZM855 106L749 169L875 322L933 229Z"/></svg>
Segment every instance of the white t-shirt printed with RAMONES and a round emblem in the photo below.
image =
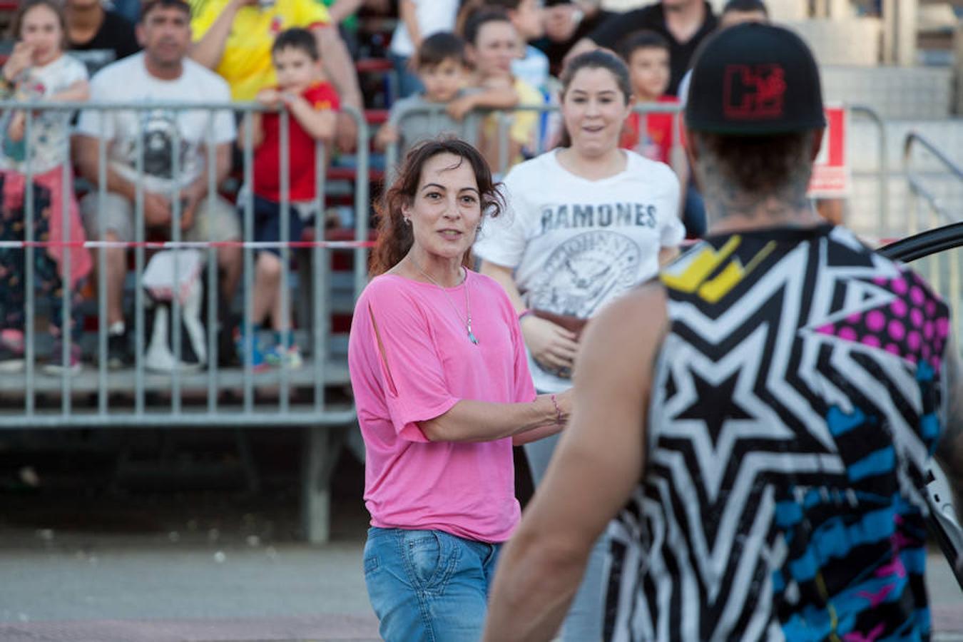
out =
<svg viewBox="0 0 963 642"><path fill-rule="evenodd" d="M555 149L512 167L507 211L485 219L476 256L514 270L529 308L587 319L659 271L659 250L685 237L679 179L663 163L625 151L623 171L597 181L561 167ZM572 385L529 355L535 388Z"/></svg>

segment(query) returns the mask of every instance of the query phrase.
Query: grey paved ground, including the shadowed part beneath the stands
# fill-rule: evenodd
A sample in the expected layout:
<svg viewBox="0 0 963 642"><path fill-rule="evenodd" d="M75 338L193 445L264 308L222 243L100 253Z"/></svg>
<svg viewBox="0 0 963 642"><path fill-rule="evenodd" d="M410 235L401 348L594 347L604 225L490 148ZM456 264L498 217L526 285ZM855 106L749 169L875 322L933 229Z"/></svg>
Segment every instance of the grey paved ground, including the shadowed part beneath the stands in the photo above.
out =
<svg viewBox="0 0 963 642"><path fill-rule="evenodd" d="M117 494L90 472L0 483L0 641L377 640L361 467L339 467L323 547L297 539L296 477L268 473L257 495ZM963 593L940 553L929 569L936 638L963 640Z"/></svg>

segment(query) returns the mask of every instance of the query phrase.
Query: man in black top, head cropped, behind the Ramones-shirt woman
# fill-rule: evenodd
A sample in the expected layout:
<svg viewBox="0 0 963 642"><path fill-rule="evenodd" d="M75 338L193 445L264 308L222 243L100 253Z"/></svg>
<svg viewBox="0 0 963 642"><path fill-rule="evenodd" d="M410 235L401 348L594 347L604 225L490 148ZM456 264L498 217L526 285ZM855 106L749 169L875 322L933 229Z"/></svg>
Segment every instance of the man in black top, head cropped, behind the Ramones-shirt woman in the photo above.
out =
<svg viewBox="0 0 963 642"><path fill-rule="evenodd" d="M676 95L679 81L702 40L716 31L718 18L706 0L662 0L628 13L612 15L572 47L566 58L595 47L617 50L627 36L648 29L664 36L669 44L669 83L665 91Z"/></svg>

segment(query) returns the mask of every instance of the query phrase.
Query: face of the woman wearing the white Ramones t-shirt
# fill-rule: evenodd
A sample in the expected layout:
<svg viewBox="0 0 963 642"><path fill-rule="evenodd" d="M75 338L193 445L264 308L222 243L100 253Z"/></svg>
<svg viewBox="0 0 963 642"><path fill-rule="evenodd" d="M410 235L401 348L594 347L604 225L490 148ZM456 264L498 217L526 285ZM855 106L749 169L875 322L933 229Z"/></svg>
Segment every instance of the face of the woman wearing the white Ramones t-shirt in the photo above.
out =
<svg viewBox="0 0 963 642"><path fill-rule="evenodd" d="M622 123L630 109L611 71L600 67L576 71L561 101L561 116L572 148L580 154L598 156L618 147Z"/></svg>

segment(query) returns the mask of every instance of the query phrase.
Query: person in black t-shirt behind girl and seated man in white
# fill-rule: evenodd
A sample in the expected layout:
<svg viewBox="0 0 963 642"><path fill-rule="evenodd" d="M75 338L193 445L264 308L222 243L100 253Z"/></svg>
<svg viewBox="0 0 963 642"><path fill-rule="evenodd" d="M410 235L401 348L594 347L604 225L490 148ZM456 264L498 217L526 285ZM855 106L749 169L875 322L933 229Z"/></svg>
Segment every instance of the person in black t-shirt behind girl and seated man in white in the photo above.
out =
<svg viewBox="0 0 963 642"><path fill-rule="evenodd" d="M119 13L105 10L101 0L66 0L65 18L70 55L86 64L91 76L141 50L134 25Z"/></svg>

